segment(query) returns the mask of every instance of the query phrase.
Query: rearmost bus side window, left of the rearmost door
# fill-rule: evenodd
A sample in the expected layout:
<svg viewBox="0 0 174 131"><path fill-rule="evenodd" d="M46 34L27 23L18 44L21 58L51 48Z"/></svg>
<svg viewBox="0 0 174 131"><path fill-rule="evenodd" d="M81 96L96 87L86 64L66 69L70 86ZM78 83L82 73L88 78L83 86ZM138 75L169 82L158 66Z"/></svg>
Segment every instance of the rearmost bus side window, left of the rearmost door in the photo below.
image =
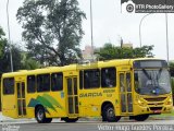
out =
<svg viewBox="0 0 174 131"><path fill-rule="evenodd" d="M14 78L3 79L3 94L4 95L14 94Z"/></svg>

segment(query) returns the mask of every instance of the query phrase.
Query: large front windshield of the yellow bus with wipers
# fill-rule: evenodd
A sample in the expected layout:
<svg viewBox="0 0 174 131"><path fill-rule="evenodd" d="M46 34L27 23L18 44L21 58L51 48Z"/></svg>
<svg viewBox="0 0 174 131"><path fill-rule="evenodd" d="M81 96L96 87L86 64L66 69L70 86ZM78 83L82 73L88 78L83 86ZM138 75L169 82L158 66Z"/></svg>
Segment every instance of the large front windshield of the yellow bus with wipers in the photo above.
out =
<svg viewBox="0 0 174 131"><path fill-rule="evenodd" d="M142 95L161 95L171 92L170 74L166 69L136 70L135 91Z"/></svg>

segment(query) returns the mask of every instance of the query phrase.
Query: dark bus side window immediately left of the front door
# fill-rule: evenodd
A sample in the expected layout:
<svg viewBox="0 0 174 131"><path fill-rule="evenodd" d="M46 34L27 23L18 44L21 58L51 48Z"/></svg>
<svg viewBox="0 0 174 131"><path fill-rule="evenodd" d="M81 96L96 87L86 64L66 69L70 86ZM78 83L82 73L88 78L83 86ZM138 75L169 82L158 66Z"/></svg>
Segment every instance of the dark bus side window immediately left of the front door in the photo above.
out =
<svg viewBox="0 0 174 131"><path fill-rule="evenodd" d="M101 69L101 86L102 87L116 86L116 70L115 70L115 68Z"/></svg>

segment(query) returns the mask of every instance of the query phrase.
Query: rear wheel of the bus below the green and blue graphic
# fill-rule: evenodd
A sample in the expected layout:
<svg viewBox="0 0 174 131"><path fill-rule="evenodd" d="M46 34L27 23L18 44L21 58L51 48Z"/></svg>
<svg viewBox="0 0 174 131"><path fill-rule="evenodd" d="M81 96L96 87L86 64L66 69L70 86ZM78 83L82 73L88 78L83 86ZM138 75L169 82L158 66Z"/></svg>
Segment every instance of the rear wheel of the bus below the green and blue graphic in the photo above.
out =
<svg viewBox="0 0 174 131"><path fill-rule="evenodd" d="M36 108L35 118L38 123L49 123L52 121L52 118L46 118L45 108L42 106Z"/></svg>

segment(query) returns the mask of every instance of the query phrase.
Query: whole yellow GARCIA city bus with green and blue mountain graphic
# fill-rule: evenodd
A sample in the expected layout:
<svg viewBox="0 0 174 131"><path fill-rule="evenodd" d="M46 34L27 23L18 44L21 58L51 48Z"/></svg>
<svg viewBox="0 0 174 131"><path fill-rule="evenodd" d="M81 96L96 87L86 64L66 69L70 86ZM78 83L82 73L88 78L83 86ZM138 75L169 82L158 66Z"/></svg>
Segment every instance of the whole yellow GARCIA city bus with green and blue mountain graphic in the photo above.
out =
<svg viewBox="0 0 174 131"><path fill-rule="evenodd" d="M154 58L4 73L1 96L2 115L36 118L39 123L52 118L75 122L83 117L144 121L173 109L167 63Z"/></svg>

